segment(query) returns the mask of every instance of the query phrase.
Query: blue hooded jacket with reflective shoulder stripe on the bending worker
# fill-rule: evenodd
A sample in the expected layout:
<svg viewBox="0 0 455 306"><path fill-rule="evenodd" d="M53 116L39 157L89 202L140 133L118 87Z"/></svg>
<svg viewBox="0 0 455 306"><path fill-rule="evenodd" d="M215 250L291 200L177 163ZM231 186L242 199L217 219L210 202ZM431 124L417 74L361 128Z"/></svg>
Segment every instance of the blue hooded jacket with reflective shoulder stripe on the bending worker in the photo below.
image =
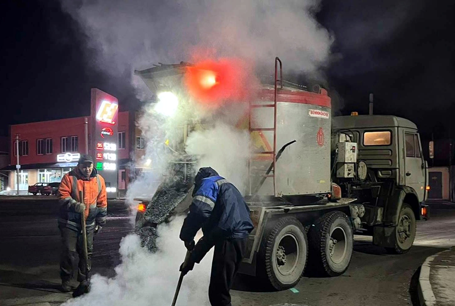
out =
<svg viewBox="0 0 455 306"><path fill-rule="evenodd" d="M183 222L180 239L192 241L202 227L206 244L203 248L208 247L205 252L201 250L203 254L193 251L193 256L203 257L216 242L245 238L253 231L250 211L242 194L212 168L199 169L192 195L193 200ZM195 251L197 249L195 247Z"/></svg>

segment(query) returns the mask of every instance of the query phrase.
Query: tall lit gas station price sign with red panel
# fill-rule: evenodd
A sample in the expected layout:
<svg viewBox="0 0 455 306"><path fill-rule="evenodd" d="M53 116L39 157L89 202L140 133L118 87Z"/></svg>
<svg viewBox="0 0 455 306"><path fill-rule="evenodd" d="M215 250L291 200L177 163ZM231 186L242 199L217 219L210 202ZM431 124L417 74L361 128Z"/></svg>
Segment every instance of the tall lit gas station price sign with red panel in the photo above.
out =
<svg viewBox="0 0 455 306"><path fill-rule="evenodd" d="M98 173L106 181L108 198L117 197L117 132L118 99L97 88L91 89L91 139L90 153L95 157Z"/></svg>

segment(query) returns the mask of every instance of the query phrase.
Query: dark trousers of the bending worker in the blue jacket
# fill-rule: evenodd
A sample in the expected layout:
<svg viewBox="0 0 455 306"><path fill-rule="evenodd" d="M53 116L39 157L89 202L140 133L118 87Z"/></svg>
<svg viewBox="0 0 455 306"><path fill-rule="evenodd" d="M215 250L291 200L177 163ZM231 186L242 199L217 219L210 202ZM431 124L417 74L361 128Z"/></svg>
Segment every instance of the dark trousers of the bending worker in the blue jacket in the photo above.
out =
<svg viewBox="0 0 455 306"><path fill-rule="evenodd" d="M245 255L248 238L226 239L215 244L208 299L212 306L231 306L229 289Z"/></svg>

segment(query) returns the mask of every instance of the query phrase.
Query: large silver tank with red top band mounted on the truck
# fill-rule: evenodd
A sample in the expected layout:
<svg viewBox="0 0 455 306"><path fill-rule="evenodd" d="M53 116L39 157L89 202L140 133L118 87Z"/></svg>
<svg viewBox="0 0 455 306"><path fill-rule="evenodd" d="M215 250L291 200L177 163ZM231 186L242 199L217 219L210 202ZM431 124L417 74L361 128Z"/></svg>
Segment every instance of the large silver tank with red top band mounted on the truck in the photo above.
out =
<svg viewBox="0 0 455 306"><path fill-rule="evenodd" d="M273 104L273 87L263 87L253 104ZM273 128L273 107L251 109L251 128ZM331 103L325 89L320 93L283 87L277 93L276 149L286 143L276 162L276 193L273 178L266 177L273 155L274 131L253 131L250 167L251 193L258 195L305 195L330 192ZM273 171L270 173L273 174ZM259 188L260 186L260 188Z"/></svg>

